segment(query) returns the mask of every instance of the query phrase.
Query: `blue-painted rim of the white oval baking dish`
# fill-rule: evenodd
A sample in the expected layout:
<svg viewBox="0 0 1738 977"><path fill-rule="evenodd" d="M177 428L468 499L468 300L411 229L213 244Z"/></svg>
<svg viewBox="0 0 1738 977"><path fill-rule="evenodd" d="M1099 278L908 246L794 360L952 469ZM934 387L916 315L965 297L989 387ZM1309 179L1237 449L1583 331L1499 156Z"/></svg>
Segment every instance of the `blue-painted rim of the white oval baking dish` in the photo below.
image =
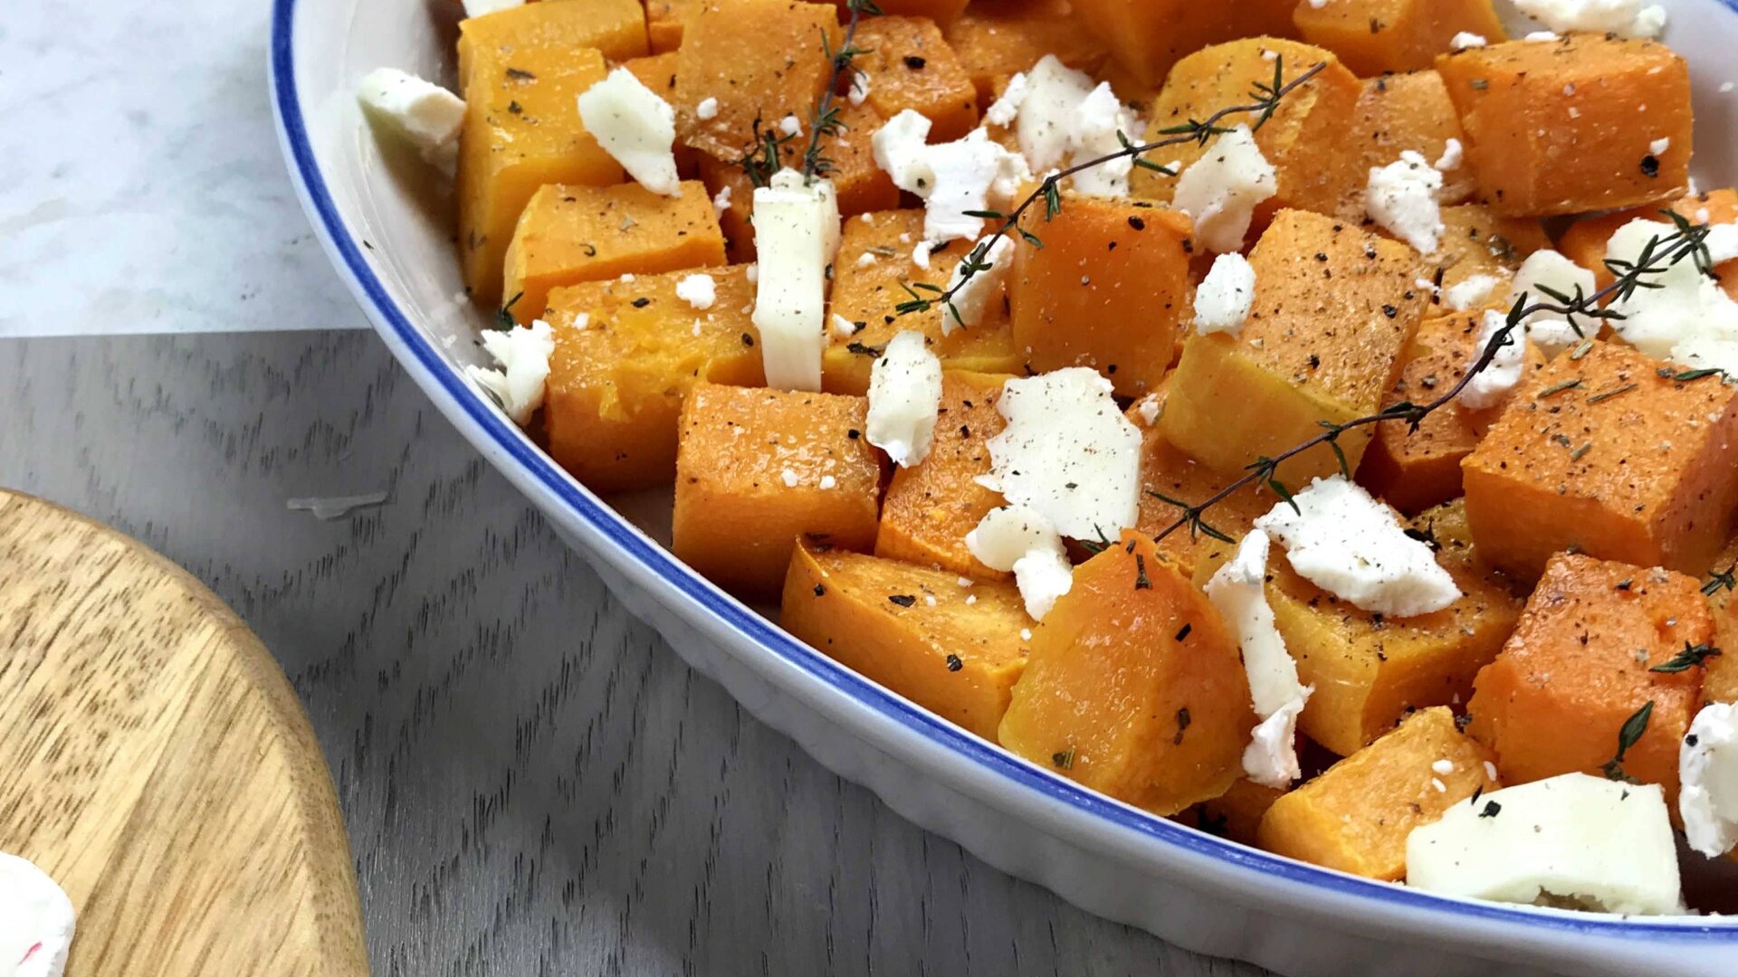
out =
<svg viewBox="0 0 1738 977"><path fill-rule="evenodd" d="M1721 0L1721 3L1728 9L1738 10L1738 0ZM1213 838L1211 834L1175 824L1163 817L1118 805L1116 801L1055 774L1027 767L1024 761L1013 758L999 748L973 739L970 734L959 730L945 720L933 716L905 699L859 676L848 668L786 635L782 629L775 628L747 607L711 593L692 570L688 570L666 549L641 537L614 509L594 499L587 499L584 492L575 488L567 473L561 471L553 459L523 440L521 433L513 428L502 414L492 410L483 398L471 389L469 384L466 384L457 370L454 370L440 355L434 344L424 337L408 318L405 318L405 315L393 302L391 296L388 296L386 287L374 275L374 269L368 268L367 259L356 247L355 238L339 216L337 207L332 202L332 195L327 191L320 165L315 162L313 144L308 139L308 129L302 122L301 111L301 97L295 87L294 14L295 0L273 0L269 66L275 96L273 108L276 110L280 134L290 148L292 176L302 184L304 200L311 202L315 216L318 217L316 229L344 259L344 269L355 283L360 285L368 304L374 306L375 322L384 322L396 334L400 342L403 342L403 346L417 358L417 363L428 370L428 376L440 384L441 393L450 396L478 428L488 433L497 450L530 471L544 488L554 494L563 504L570 506L574 513L579 515L579 518L582 518L591 528L608 537L615 546L620 546L634 560L674 586L683 596L695 601L707 614L723 621L730 628L746 633L749 638L812 678L826 681L827 685L848 694L862 706L869 706L883 718L893 720L926 737L942 741L954 753L973 760L1013 784L1018 784L1024 789L1038 791L1053 800L1060 800L1069 807L1098 817L1116 827L1135 831L1166 845L1189 848L1237 867L1255 869L1264 874L1281 876L1302 885L1328 888L1349 897L1390 906L1406 906L1483 920L1500 920L1505 923L1521 923L1526 927L1566 930L1587 935L1738 942L1738 928L1729 925L1721 927L1693 923L1684 918L1660 921L1592 914L1587 918L1573 918L1531 913L1502 904L1463 902L1383 881L1361 880Z"/></svg>

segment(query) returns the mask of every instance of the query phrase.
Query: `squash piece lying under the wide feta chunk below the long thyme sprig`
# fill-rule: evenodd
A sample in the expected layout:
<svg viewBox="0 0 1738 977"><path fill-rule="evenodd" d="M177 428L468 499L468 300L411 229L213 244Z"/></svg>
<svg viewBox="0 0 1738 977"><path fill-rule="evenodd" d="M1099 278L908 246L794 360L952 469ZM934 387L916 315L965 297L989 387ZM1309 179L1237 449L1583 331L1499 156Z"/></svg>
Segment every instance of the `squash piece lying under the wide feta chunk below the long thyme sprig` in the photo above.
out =
<svg viewBox="0 0 1738 977"><path fill-rule="evenodd" d="M1269 563L1267 603L1298 664L1314 685L1298 728L1350 756L1406 713L1451 706L1472 695L1472 680L1514 631L1521 601L1509 581L1484 565L1469 539L1458 502L1413 522L1441 549L1437 562L1462 598L1434 614L1383 619L1352 607L1304 577L1283 558Z"/></svg>

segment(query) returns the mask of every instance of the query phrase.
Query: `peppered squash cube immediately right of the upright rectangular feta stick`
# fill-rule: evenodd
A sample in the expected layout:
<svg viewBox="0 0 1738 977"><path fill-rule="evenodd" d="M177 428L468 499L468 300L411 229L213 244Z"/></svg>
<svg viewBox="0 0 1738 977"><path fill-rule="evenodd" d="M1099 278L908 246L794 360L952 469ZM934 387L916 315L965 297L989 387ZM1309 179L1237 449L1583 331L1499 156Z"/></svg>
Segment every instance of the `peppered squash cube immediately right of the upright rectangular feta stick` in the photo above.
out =
<svg viewBox="0 0 1738 977"><path fill-rule="evenodd" d="M949 242L930 250L930 266L911 256L923 242L923 210L881 210L845 221L839 257L833 266L833 304L827 316L829 342L820 356L822 388L833 393L869 391L869 370L878 349L905 330L921 332L930 351L949 370L980 374L1022 372L1013 330L1001 296L989 301L984 320L942 336L944 309L899 315L911 297L912 282L947 282L954 266L972 250L970 242ZM845 329L850 325L850 330Z"/></svg>

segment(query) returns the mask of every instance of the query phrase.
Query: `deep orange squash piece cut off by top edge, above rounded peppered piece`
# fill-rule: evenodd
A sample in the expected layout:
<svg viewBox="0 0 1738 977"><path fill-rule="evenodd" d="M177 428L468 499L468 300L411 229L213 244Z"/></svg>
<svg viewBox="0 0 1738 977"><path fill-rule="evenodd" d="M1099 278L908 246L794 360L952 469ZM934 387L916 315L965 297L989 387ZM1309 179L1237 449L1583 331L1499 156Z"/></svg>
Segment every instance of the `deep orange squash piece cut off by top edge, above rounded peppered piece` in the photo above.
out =
<svg viewBox="0 0 1738 977"><path fill-rule="evenodd" d="M1187 54L1239 37L1298 37L1295 0L1074 0L1074 12L1109 49L1116 63L1147 85L1158 85Z"/></svg>

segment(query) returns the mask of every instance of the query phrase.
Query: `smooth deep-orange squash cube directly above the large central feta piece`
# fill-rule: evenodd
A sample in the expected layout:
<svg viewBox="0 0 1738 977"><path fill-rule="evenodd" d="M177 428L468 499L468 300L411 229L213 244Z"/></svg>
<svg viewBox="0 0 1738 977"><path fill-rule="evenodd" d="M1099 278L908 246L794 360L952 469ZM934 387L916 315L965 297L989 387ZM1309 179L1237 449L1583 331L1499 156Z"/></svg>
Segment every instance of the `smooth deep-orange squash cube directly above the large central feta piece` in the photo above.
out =
<svg viewBox="0 0 1738 977"><path fill-rule="evenodd" d="M1121 396L1152 393L1194 318L1187 216L1145 200L1071 196L1029 214L1008 280L1013 346L1038 372L1091 367Z"/></svg>

